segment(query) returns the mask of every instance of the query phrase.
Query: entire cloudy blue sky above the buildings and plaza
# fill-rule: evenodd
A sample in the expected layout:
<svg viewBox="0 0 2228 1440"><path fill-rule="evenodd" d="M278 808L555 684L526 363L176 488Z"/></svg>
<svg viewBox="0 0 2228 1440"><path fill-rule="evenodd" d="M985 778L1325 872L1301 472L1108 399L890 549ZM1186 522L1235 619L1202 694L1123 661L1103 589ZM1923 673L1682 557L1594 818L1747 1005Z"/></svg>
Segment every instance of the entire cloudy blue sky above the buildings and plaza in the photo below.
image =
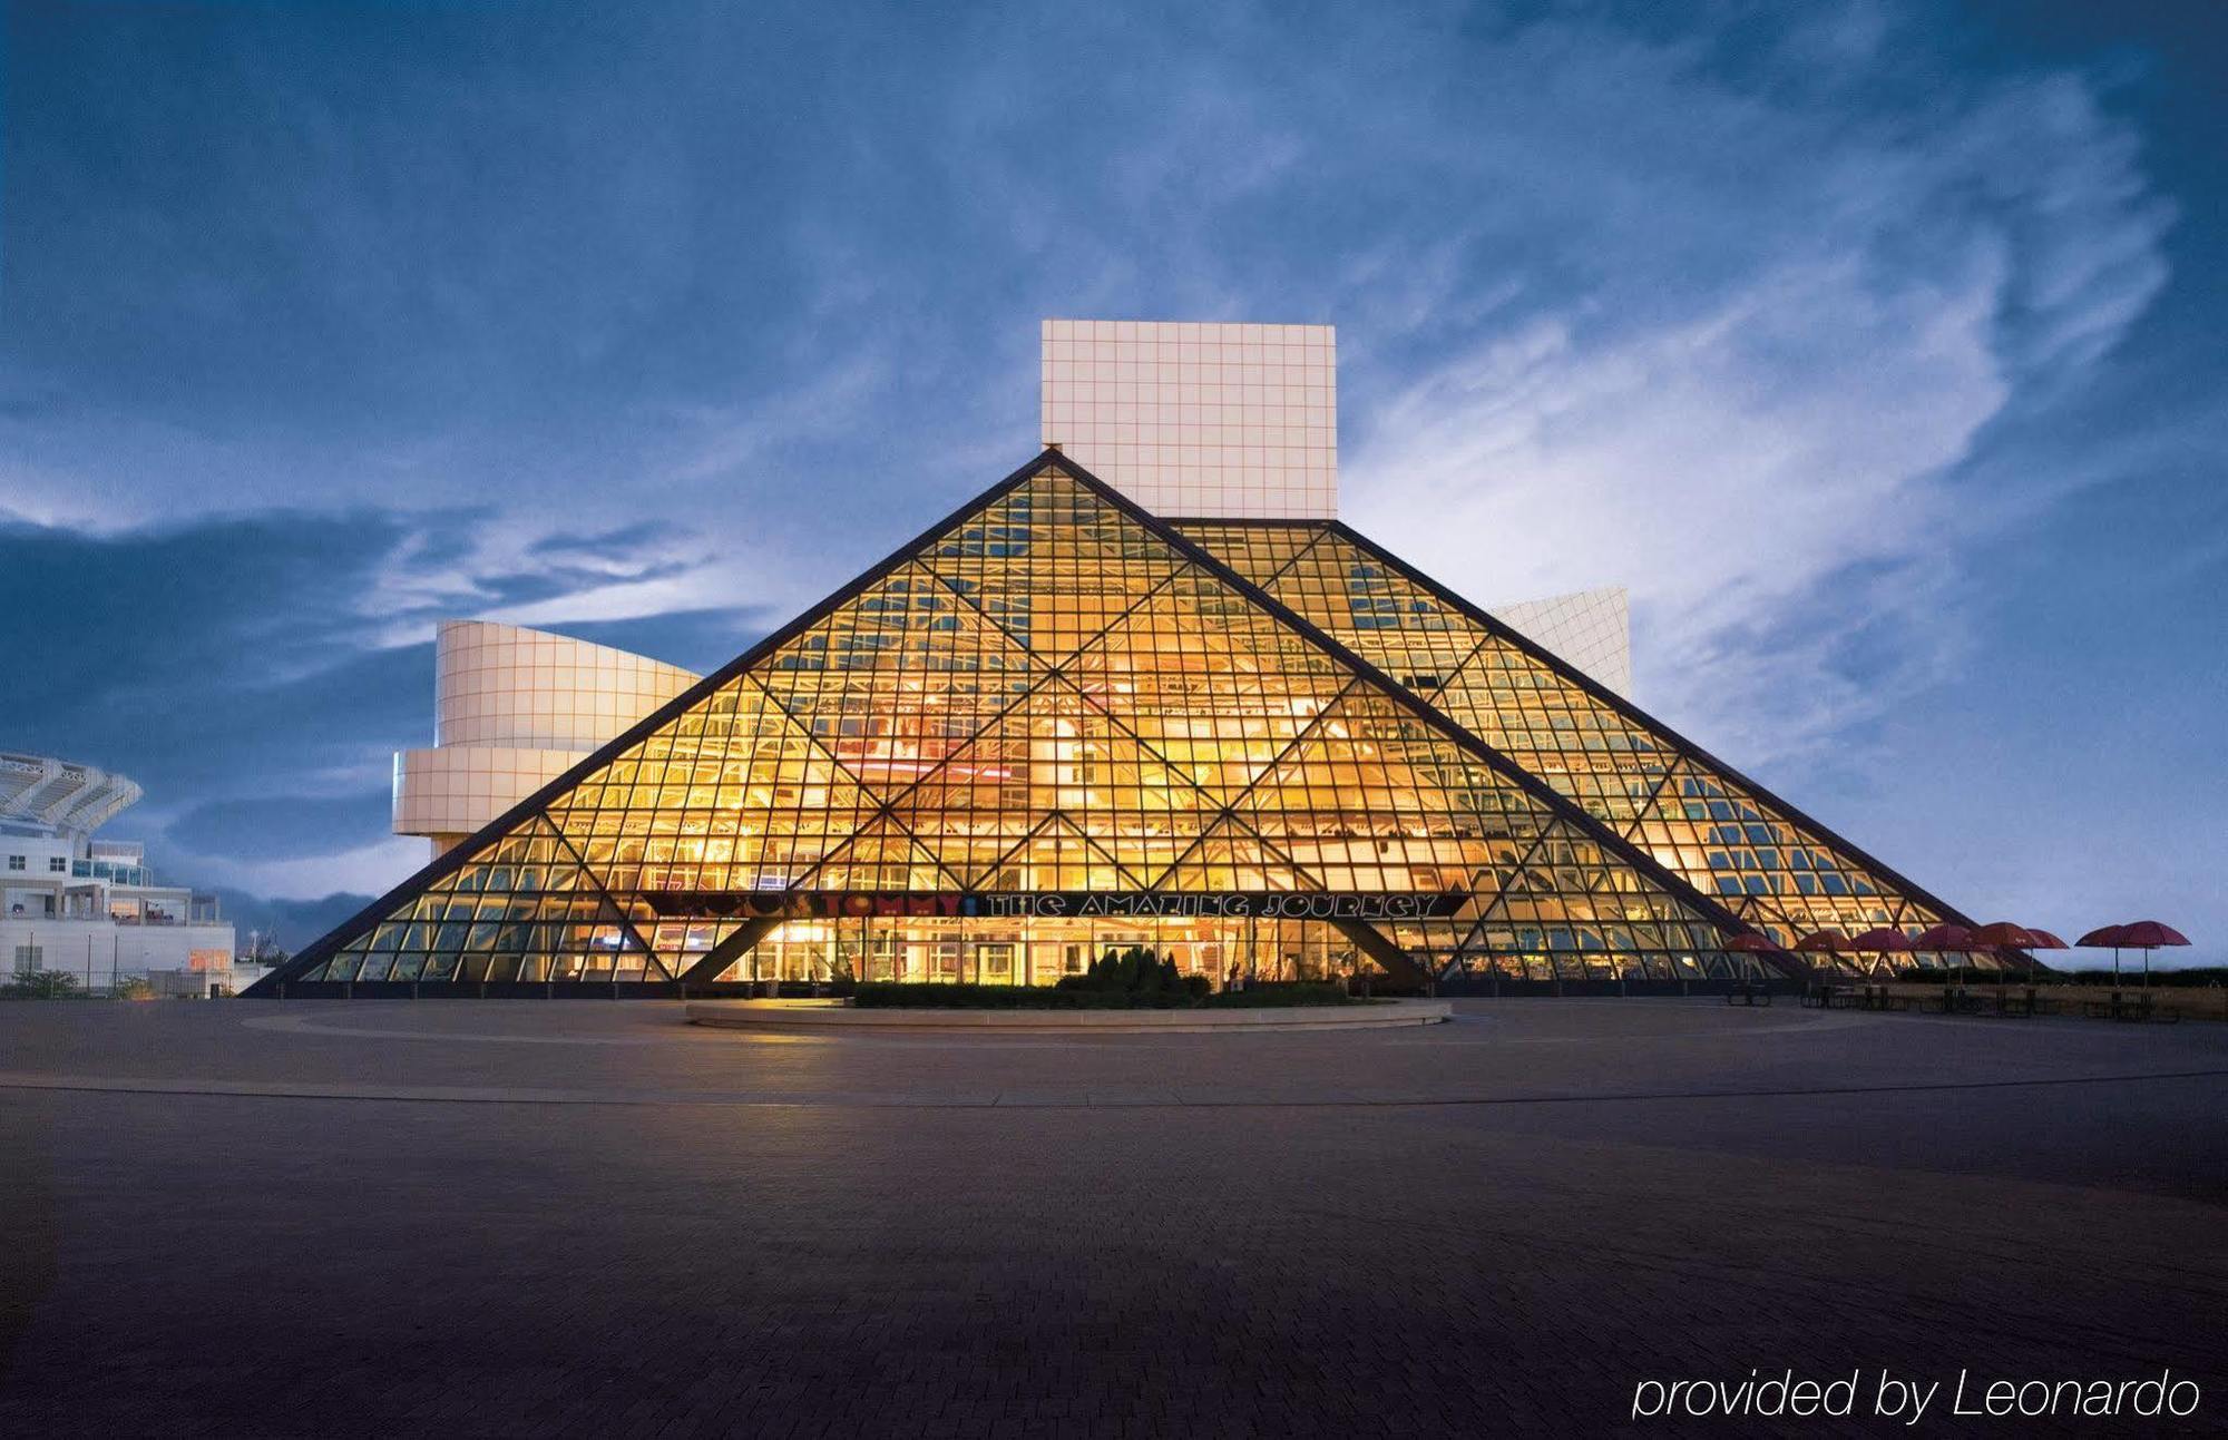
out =
<svg viewBox="0 0 2228 1440"><path fill-rule="evenodd" d="M1364 531L1983 918L2228 954L2228 13L4 11L0 745L301 943L432 624L709 669L1027 459L1045 314L1328 321Z"/></svg>

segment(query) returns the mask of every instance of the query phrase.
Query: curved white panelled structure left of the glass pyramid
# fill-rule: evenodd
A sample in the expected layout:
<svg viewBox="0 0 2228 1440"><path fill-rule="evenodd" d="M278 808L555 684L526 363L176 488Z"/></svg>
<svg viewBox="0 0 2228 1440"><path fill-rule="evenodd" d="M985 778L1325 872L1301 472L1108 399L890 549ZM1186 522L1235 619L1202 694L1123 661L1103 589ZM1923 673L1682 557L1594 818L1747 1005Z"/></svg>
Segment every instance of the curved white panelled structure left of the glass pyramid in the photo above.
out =
<svg viewBox="0 0 2228 1440"><path fill-rule="evenodd" d="M394 756L394 834L455 845L695 682L608 644L441 622L434 749Z"/></svg>

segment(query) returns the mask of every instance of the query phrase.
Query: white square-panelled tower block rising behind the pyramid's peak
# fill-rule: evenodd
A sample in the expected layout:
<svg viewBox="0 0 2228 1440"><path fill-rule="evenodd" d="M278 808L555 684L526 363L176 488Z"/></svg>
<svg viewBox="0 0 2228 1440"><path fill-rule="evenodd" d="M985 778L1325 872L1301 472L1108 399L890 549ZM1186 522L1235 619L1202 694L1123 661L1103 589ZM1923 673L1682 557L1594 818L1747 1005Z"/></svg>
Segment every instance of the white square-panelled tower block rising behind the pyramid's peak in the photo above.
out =
<svg viewBox="0 0 2228 1440"><path fill-rule="evenodd" d="M1043 441L1154 515L1339 513L1330 325L1045 321Z"/></svg>

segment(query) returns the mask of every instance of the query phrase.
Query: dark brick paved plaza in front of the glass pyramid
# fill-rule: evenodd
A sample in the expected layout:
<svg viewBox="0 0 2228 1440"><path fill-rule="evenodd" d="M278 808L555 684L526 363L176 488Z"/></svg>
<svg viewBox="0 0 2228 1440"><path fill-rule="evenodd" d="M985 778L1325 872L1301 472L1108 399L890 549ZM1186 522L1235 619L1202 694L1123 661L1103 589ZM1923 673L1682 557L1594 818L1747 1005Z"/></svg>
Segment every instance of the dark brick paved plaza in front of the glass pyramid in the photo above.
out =
<svg viewBox="0 0 2228 1440"><path fill-rule="evenodd" d="M0 1072L0 1436L1589 1433L1751 1366L2228 1413L2221 1025L20 1003Z"/></svg>

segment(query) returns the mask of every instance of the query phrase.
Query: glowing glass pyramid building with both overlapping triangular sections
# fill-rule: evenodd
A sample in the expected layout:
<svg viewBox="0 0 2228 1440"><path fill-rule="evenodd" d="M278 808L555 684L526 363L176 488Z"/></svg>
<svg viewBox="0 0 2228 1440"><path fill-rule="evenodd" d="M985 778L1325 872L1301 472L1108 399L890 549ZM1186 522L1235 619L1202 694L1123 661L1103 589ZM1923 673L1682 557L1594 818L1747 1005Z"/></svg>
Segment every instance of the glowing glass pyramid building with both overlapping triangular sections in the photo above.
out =
<svg viewBox="0 0 2228 1440"><path fill-rule="evenodd" d="M263 994L1798 972L1963 918L1343 524L1165 522L1056 448Z"/></svg>

